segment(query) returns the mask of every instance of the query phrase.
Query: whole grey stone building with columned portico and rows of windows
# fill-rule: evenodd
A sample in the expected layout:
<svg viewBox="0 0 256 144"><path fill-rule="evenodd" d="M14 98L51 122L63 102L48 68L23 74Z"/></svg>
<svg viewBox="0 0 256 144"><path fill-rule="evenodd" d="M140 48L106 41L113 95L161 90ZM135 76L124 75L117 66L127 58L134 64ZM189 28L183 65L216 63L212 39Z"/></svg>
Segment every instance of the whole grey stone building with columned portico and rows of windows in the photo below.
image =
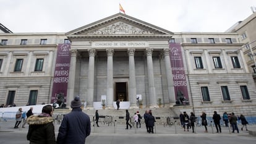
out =
<svg viewBox="0 0 256 144"><path fill-rule="evenodd" d="M173 33L120 13L67 33L1 33L0 103L51 103L58 44L70 41L68 105L79 95L88 109L100 108L102 99L109 109L117 99L137 108L139 97L148 108L160 99L165 108L198 114L255 116L255 84L238 36ZM188 105L174 106L179 91Z"/></svg>

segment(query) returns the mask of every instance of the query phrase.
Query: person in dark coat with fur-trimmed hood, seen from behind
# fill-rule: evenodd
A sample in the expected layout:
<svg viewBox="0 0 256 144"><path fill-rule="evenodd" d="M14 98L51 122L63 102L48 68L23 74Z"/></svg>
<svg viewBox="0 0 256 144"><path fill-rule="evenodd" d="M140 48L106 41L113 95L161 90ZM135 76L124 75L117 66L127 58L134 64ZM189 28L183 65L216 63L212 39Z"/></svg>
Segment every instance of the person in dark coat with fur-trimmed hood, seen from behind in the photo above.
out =
<svg viewBox="0 0 256 144"><path fill-rule="evenodd" d="M31 144L56 144L52 115L53 107L48 104L43 107L41 114L27 118L29 124L27 140Z"/></svg>

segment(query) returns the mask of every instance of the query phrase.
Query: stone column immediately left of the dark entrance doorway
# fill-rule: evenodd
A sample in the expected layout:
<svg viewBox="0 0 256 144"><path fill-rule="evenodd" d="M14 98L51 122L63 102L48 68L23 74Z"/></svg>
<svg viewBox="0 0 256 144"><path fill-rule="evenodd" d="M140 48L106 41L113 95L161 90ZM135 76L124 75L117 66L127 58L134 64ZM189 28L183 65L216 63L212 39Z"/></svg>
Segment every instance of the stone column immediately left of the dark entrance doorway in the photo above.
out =
<svg viewBox="0 0 256 144"><path fill-rule="evenodd" d="M107 64L107 95L106 95L106 104L109 108L113 107L113 54L114 49L106 49L108 54L108 64Z"/></svg>

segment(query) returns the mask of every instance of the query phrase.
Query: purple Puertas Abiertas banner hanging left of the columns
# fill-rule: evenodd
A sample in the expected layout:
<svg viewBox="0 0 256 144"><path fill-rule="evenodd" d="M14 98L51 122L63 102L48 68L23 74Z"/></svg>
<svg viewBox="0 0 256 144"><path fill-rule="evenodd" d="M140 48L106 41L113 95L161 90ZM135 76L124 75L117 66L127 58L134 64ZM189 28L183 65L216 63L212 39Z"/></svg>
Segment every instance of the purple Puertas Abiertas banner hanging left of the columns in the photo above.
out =
<svg viewBox="0 0 256 144"><path fill-rule="evenodd" d="M70 44L59 44L53 79L53 93L51 103L56 103L58 94L67 100L67 83L69 82Z"/></svg>

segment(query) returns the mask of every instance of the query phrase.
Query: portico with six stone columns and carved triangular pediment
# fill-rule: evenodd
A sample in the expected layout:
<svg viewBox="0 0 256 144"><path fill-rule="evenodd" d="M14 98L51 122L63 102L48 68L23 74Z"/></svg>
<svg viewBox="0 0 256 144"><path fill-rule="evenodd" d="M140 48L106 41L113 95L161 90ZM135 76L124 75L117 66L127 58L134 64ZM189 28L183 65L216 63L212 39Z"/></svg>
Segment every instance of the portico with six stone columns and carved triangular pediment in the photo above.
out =
<svg viewBox="0 0 256 144"><path fill-rule="evenodd" d="M130 108L174 104L168 40L173 33L124 14L116 14L67 33L72 54L67 104L75 95L87 107L106 96L106 106L123 98ZM71 68L71 67L70 67Z"/></svg>

